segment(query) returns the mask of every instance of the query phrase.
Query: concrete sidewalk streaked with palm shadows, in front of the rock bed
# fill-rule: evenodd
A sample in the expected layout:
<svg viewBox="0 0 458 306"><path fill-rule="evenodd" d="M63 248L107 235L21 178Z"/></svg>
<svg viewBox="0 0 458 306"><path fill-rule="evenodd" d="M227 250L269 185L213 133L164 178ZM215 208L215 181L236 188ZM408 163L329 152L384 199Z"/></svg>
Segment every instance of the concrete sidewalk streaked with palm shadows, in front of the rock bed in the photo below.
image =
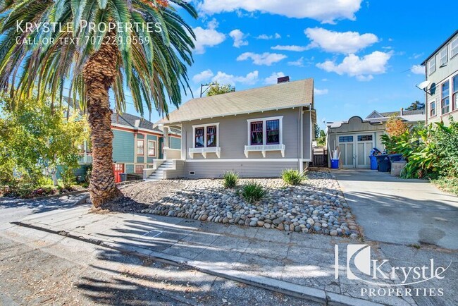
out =
<svg viewBox="0 0 458 306"><path fill-rule="evenodd" d="M345 249L359 243L355 240L163 216L92 214L87 205L35 214L18 224L328 305L416 305L411 297L361 300L361 288L379 286L345 278ZM371 258L385 259L380 246L370 244ZM339 279L335 245L343 251Z"/></svg>

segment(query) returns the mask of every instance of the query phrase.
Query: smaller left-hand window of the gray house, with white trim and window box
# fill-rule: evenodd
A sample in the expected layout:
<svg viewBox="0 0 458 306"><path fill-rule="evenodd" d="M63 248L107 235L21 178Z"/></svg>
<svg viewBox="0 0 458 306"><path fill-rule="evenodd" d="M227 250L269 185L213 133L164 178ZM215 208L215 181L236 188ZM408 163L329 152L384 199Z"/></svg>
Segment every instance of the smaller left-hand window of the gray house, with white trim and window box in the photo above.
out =
<svg viewBox="0 0 458 306"><path fill-rule="evenodd" d="M214 153L221 158L221 147L219 147L219 123L209 123L199 126L192 126L192 148L189 155L202 154L206 158L207 153Z"/></svg>

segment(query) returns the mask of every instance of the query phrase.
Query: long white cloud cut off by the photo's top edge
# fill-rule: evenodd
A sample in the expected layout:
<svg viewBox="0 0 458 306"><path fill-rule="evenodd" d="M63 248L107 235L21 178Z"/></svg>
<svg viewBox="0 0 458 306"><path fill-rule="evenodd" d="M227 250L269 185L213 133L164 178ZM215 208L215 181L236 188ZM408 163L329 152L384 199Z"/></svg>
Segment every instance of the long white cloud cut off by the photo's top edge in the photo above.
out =
<svg viewBox="0 0 458 306"><path fill-rule="evenodd" d="M290 18L311 18L322 23L356 19L362 0L199 0L197 8L206 15L244 10Z"/></svg>

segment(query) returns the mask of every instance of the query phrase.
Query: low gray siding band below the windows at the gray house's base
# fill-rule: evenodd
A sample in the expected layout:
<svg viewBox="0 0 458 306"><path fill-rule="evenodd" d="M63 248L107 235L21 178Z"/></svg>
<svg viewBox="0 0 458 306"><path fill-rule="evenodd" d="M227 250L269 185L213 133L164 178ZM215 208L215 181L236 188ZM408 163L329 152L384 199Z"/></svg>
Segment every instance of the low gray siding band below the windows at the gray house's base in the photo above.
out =
<svg viewBox="0 0 458 306"><path fill-rule="evenodd" d="M294 161L187 162L187 178L221 178L225 171L235 171L242 178L276 178L284 169L299 169ZM194 171L195 175L190 175Z"/></svg>

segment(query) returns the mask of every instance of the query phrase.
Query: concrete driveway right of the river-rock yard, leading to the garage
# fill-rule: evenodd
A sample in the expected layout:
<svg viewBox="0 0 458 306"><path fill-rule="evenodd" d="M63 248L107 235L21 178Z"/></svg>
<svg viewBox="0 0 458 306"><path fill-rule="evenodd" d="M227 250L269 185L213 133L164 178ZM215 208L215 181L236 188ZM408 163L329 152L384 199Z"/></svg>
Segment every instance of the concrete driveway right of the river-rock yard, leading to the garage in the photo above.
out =
<svg viewBox="0 0 458 306"><path fill-rule="evenodd" d="M428 180L361 169L334 173L366 239L458 250L457 196Z"/></svg>

